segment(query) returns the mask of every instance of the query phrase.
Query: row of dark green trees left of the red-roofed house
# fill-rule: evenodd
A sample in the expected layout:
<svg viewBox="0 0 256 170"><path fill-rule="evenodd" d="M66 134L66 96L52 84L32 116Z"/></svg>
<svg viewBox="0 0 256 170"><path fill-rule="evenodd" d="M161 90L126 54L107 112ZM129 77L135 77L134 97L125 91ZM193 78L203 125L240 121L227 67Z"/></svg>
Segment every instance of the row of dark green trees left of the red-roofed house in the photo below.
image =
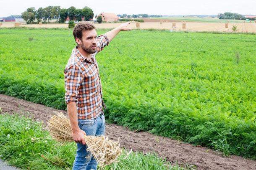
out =
<svg viewBox="0 0 256 170"><path fill-rule="evenodd" d="M27 23L34 22L37 19L37 22L49 22L52 19L55 19L59 23L65 23L66 19L69 17L69 20L89 21L94 16L93 11L89 7L84 7L82 9L76 9L75 7L69 7L68 9L60 8L60 6L48 6L46 8L36 8L31 7L26 11L21 13L21 18L23 18Z"/></svg>

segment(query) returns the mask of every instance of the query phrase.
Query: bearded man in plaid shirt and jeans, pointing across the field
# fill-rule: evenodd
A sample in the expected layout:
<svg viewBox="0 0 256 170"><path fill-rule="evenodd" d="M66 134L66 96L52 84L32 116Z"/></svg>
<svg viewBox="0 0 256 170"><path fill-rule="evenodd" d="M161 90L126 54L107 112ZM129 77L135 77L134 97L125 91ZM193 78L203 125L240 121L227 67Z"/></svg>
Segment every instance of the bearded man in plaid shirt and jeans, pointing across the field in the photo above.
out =
<svg viewBox="0 0 256 170"><path fill-rule="evenodd" d="M77 46L65 67L65 101L73 140L77 143L73 170L97 170L97 161L86 151L84 135L104 135L105 118L102 84L95 55L102 51L120 31L131 30L127 23L97 36L94 25L78 23L73 30Z"/></svg>

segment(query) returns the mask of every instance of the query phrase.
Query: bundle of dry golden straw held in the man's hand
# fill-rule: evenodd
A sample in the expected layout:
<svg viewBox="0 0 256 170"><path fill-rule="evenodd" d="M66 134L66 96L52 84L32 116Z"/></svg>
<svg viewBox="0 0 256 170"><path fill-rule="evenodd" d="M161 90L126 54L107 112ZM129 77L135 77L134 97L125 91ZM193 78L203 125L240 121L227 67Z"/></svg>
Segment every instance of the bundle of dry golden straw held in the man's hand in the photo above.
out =
<svg viewBox="0 0 256 170"><path fill-rule="evenodd" d="M65 115L61 112L54 112L49 121L49 131L51 136L58 141L73 141L71 124ZM91 152L99 163L99 167L105 167L112 162L118 162L117 158L122 153L117 142L108 140L104 136L84 136L87 150Z"/></svg>

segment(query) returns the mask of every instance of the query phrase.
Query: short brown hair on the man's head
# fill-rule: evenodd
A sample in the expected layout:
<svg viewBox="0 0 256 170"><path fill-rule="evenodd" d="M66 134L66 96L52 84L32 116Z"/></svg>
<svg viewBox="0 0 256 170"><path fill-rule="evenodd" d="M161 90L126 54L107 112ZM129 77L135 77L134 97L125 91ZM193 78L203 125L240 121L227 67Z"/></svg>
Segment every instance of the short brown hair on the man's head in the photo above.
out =
<svg viewBox="0 0 256 170"><path fill-rule="evenodd" d="M76 41L76 38L79 38L80 40L82 40L83 30L93 30L93 29L96 29L94 25L92 25L87 21L78 23L73 29L73 35L74 35L75 41Z"/></svg>

